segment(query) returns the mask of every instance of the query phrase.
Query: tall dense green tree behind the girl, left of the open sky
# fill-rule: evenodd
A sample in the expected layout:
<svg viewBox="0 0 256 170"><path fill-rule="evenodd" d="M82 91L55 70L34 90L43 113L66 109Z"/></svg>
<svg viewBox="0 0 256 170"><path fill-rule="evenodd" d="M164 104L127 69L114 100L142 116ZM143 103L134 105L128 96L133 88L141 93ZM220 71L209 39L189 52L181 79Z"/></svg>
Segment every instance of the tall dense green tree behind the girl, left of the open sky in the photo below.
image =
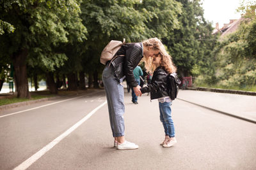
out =
<svg viewBox="0 0 256 170"><path fill-rule="evenodd" d="M213 67L210 55L216 37L211 34L211 24L204 19L200 1L179 2L182 4L182 15L179 15L180 28L169 32L164 38L164 44L168 46L179 74L196 76L205 73L205 67Z"/></svg>

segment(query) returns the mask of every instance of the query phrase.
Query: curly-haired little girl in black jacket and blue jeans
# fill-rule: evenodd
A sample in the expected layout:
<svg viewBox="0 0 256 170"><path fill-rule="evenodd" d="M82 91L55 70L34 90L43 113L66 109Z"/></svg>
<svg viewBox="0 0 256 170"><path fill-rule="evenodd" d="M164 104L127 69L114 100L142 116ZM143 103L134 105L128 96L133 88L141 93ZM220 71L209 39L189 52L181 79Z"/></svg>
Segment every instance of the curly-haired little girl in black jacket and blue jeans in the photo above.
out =
<svg viewBox="0 0 256 170"><path fill-rule="evenodd" d="M170 73L176 71L176 67L173 65L171 56L168 55L164 46L159 50L159 54L154 56L152 65L145 63L145 67L148 71L154 71L152 81L147 87L141 88L141 93L150 92L150 99L158 99L160 120L164 126L165 138L160 144L164 148L169 148L177 143L175 138L175 129L172 120L172 99L168 94L167 76Z"/></svg>

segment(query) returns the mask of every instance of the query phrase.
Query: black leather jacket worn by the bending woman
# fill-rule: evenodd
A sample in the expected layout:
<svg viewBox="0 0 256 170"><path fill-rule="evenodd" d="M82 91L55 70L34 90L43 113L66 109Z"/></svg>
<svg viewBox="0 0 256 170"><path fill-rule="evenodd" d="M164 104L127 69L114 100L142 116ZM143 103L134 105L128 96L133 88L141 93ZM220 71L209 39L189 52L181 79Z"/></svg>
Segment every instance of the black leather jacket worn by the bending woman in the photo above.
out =
<svg viewBox="0 0 256 170"><path fill-rule="evenodd" d="M133 69L138 66L143 57L142 43L127 43L116 52L116 55L125 55L116 57L116 59L111 62L116 77L120 80L120 78L125 76L127 83L129 83L131 87L136 87L138 83L134 78Z"/></svg>

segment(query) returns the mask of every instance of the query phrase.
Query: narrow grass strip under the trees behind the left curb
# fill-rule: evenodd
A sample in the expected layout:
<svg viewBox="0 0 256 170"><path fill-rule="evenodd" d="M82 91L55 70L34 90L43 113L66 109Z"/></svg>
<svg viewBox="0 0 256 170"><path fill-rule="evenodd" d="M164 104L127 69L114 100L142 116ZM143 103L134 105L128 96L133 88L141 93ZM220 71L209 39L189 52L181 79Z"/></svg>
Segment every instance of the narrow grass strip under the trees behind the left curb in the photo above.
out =
<svg viewBox="0 0 256 170"><path fill-rule="evenodd" d="M47 96L42 96L42 95L33 95L31 96L31 99L27 99L27 98L17 98L17 97L12 97L12 98L4 98L4 99L0 99L0 106L3 106L5 104L12 104L12 103L18 103L18 102L22 102L22 101L33 101L36 99L43 99L45 97L54 97L54 95L47 95Z"/></svg>

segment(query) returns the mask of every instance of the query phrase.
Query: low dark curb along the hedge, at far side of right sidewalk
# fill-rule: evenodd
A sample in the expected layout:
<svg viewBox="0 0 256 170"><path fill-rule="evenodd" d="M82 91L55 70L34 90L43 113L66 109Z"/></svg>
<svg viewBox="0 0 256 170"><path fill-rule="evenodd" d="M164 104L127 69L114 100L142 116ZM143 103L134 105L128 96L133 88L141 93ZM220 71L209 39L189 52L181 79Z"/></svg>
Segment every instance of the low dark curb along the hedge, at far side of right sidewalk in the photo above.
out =
<svg viewBox="0 0 256 170"><path fill-rule="evenodd" d="M187 89L207 91L207 92L219 92L219 93L243 94L243 95L249 95L249 96L256 96L256 92L247 92L242 90L213 89L213 88L206 88L206 87L187 87Z"/></svg>

